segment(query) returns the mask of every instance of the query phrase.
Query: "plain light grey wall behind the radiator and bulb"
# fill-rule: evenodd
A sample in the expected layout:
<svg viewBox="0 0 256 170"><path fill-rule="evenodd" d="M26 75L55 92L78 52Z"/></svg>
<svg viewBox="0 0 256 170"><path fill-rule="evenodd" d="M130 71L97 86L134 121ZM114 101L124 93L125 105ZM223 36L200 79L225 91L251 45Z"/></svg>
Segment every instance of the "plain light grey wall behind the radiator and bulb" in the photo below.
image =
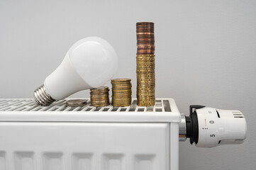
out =
<svg viewBox="0 0 256 170"><path fill-rule="evenodd" d="M115 77L130 77L135 97L138 21L155 22L157 97L174 98L182 113L202 104L239 109L247 118L243 145L180 142L180 169L255 169L256 1L2 0L0 97L31 98L69 47L91 35L115 47Z"/></svg>

